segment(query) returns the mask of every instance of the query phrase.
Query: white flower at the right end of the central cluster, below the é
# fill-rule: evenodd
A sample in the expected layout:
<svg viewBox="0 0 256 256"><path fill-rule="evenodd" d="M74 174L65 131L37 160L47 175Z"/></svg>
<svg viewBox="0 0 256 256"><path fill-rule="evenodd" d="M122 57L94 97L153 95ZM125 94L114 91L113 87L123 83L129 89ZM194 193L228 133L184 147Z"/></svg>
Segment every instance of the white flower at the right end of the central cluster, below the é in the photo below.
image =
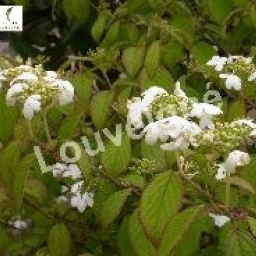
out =
<svg viewBox="0 0 256 256"><path fill-rule="evenodd" d="M222 113L221 109L217 106L207 103L194 103L193 109L190 116L196 116L200 119L200 127L205 128L208 127L210 129L214 128L214 124L212 123L212 116L220 115Z"/></svg>

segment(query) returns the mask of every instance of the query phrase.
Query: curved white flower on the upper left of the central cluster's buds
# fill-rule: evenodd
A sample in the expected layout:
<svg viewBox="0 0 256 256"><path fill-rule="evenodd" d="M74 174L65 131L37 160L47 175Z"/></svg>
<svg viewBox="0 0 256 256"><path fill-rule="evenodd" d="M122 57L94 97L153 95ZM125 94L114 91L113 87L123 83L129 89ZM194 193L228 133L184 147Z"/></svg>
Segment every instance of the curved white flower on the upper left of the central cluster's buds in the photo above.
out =
<svg viewBox="0 0 256 256"><path fill-rule="evenodd" d="M147 91L141 93L143 99L141 100L141 107L143 113L148 112L148 107L156 99L156 96L167 94L166 90L161 87L152 86Z"/></svg>

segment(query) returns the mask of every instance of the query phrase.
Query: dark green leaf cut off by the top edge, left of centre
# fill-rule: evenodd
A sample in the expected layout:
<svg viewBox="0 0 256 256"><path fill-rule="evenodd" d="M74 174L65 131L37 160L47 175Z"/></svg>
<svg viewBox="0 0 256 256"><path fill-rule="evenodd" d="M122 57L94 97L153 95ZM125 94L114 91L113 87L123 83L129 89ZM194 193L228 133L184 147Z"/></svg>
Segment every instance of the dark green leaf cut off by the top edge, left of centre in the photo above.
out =
<svg viewBox="0 0 256 256"><path fill-rule="evenodd" d="M90 13L88 0L63 0L63 10L69 19L75 18L81 23L86 22Z"/></svg>

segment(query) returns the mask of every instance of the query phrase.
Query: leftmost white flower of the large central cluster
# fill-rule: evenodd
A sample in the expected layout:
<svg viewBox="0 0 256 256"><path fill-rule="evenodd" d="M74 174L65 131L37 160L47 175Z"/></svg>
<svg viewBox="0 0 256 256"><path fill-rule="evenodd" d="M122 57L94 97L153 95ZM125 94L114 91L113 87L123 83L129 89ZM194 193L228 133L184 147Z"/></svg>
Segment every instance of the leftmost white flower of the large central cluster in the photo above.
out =
<svg viewBox="0 0 256 256"><path fill-rule="evenodd" d="M127 103L127 119L136 129L140 129L144 126L142 121L142 105L140 98L134 98Z"/></svg>

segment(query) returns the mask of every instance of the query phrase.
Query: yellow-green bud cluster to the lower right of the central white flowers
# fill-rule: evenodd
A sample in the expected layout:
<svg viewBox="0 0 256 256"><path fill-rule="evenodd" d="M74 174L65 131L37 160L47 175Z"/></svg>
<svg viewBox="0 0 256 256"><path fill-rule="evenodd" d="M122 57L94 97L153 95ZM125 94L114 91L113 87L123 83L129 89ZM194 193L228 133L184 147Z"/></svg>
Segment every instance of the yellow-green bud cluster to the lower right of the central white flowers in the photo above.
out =
<svg viewBox="0 0 256 256"><path fill-rule="evenodd" d="M248 137L252 128L248 125L236 123L220 123L215 124L213 130L204 130L197 138L200 145L212 145L221 152L228 152L232 148L236 148Z"/></svg>

